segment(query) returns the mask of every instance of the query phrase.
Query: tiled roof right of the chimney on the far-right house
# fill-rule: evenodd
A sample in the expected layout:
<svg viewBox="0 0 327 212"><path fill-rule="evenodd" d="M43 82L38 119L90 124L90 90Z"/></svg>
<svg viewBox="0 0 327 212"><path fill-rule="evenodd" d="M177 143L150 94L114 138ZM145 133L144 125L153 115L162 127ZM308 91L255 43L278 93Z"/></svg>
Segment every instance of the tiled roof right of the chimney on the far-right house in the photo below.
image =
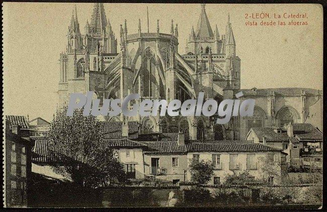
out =
<svg viewBox="0 0 327 212"><path fill-rule="evenodd" d="M322 140L322 133L309 123L293 124L293 133L299 140Z"/></svg>

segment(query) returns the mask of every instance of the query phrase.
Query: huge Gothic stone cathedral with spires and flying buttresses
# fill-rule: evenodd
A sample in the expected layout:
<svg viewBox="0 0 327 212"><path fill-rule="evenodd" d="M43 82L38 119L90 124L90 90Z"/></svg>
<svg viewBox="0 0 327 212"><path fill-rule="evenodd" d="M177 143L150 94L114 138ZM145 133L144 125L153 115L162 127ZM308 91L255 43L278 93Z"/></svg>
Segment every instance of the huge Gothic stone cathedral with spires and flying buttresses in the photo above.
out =
<svg viewBox="0 0 327 212"><path fill-rule="evenodd" d="M139 20L138 31L130 33L125 20L120 27L117 50L117 39L102 3L94 5L92 21L86 24L84 35L79 30L75 10L68 27L66 51L60 54L58 105L67 104L73 92L88 91L95 91L94 98L100 99L139 93L140 100L183 102L197 98L201 91L205 99L213 98L218 103L224 98L234 98L240 89L241 73L229 15L224 31L219 32L217 26L212 30L205 4L201 4L201 15L196 29L191 29L185 54L179 51L178 24L174 25L173 20L171 31L166 33L160 31L159 20L154 32L142 32ZM321 97L320 91L306 93L305 89L303 93L297 89L246 93L242 98L256 99L263 126L279 125L279 112L285 107L290 109L294 122L303 123L311 106ZM321 117L319 110L315 113ZM101 117L105 121L138 121L141 133L184 132L189 139L244 139L249 130L246 119L233 117L226 125L215 125L216 118L139 115L127 118L122 114L115 118Z"/></svg>

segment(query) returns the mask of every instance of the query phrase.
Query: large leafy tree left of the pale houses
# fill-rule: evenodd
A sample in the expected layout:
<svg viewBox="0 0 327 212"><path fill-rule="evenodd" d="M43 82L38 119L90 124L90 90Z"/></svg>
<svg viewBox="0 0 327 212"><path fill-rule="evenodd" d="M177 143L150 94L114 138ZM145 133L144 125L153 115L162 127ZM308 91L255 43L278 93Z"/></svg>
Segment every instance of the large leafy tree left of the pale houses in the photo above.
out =
<svg viewBox="0 0 327 212"><path fill-rule="evenodd" d="M113 150L105 147L99 120L83 116L82 109L75 110L72 117L66 112L67 107L57 110L47 134L49 147L59 160L55 170L68 173L73 182L83 186L125 182L122 164Z"/></svg>

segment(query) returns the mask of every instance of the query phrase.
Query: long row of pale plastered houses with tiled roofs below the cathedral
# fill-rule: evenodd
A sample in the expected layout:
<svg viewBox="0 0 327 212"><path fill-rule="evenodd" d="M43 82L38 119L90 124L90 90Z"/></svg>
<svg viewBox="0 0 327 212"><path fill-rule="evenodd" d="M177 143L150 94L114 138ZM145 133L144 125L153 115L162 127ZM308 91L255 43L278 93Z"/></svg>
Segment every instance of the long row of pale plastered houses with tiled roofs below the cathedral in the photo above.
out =
<svg viewBox="0 0 327 212"><path fill-rule="evenodd" d="M222 183L226 175L233 171L247 170L254 179L259 179L262 176L261 161L268 158L279 164L286 155L281 149L251 141L186 140L183 133L139 135L137 122L129 122L127 129L123 128L121 122L104 122L103 135L106 146L115 150L118 161L124 164L131 180L155 176L172 183L190 181L189 164L193 158L215 164L210 184ZM42 143L40 138L34 139L36 143L33 151L38 155L42 155L37 149L42 146L38 144ZM50 154L49 151L43 152ZM281 166L278 167L277 175L280 176ZM270 180L278 183L277 179Z"/></svg>

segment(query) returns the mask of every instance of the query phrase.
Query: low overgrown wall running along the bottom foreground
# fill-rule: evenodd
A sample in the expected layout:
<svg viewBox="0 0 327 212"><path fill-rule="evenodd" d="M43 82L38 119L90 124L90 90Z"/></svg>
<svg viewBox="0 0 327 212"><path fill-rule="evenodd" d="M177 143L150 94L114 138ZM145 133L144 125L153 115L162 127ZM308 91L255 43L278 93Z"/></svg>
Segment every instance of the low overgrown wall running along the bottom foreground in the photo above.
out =
<svg viewBox="0 0 327 212"><path fill-rule="evenodd" d="M319 194L321 191L321 194ZM199 185L115 186L103 189L104 207L115 206L251 206L321 204L317 184L299 185Z"/></svg>

